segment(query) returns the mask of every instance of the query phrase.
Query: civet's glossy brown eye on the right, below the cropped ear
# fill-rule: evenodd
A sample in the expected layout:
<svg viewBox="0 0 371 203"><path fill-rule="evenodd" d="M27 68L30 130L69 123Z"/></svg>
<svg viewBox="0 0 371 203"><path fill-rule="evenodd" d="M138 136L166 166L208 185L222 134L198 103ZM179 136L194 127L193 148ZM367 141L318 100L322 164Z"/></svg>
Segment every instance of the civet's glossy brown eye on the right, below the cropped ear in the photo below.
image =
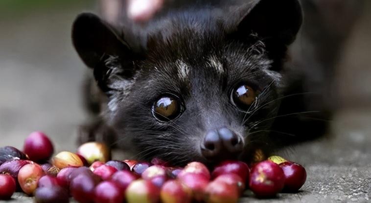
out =
<svg viewBox="0 0 371 203"><path fill-rule="evenodd" d="M232 92L233 103L242 110L247 110L254 103L256 91L247 85L238 86Z"/></svg>

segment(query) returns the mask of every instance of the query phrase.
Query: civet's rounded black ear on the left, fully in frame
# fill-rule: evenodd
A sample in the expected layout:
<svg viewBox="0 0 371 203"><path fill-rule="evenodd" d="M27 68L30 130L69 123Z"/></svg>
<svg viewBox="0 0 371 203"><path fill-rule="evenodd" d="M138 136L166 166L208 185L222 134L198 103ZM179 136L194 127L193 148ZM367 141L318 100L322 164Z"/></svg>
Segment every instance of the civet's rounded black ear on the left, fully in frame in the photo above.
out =
<svg viewBox="0 0 371 203"><path fill-rule="evenodd" d="M91 13L80 14L72 27L73 45L83 62L93 68L95 80L103 91L113 83L113 74L130 78L134 73L135 53L115 29ZM114 59L108 63L109 60Z"/></svg>

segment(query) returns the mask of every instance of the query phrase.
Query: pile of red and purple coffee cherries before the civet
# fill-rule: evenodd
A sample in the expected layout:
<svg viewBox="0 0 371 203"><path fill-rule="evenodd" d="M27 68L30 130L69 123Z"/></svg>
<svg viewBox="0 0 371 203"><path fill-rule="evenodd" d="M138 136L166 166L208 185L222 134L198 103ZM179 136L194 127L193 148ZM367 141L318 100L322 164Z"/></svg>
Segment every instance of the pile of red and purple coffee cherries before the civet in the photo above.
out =
<svg viewBox="0 0 371 203"><path fill-rule="evenodd" d="M76 153L51 158L53 153L42 132L25 139L23 152L0 148L0 200L23 191L36 203L69 203L70 197L80 203L236 203L247 185L257 198L268 198L296 192L306 180L304 167L278 156L252 164L251 170L244 162L226 160L210 173L201 162L180 168L158 158L110 160L110 150L98 142L85 143Z"/></svg>

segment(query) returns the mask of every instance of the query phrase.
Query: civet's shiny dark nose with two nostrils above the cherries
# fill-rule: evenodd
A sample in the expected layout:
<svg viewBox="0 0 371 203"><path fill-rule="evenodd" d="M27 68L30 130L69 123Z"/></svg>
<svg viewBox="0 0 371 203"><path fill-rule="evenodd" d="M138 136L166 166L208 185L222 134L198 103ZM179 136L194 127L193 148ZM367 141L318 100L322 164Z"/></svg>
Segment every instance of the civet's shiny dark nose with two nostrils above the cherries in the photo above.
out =
<svg viewBox="0 0 371 203"><path fill-rule="evenodd" d="M201 143L202 155L209 159L237 158L242 152L244 141L241 136L223 127L209 131Z"/></svg>

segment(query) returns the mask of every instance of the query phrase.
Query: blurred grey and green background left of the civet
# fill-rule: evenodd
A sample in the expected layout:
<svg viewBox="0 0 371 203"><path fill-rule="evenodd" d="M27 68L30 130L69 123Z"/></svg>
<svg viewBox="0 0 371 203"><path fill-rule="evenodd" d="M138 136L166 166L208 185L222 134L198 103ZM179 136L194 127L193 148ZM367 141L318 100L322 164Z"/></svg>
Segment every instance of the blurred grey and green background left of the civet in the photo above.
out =
<svg viewBox="0 0 371 203"><path fill-rule="evenodd" d="M75 149L87 68L70 32L83 11L97 12L96 1L0 0L1 146L22 148L26 135L42 130L56 150Z"/></svg>

